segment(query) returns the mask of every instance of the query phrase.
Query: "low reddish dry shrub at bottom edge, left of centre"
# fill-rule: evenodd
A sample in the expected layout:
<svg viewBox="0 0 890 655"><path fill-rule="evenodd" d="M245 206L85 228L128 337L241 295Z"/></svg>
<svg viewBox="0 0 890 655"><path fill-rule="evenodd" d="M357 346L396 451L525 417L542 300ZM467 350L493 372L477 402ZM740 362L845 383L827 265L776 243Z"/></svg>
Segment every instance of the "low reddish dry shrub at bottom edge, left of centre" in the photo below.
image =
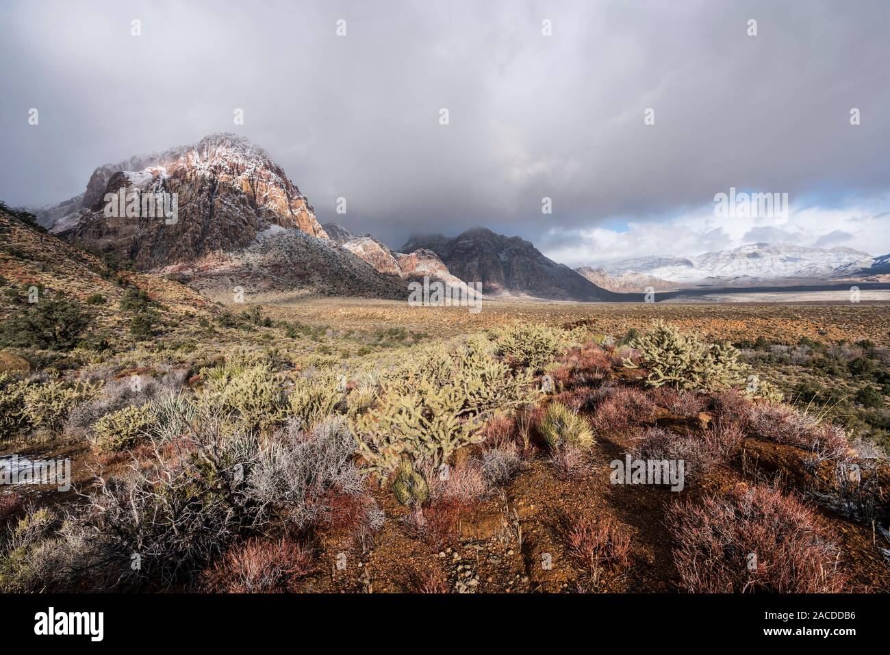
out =
<svg viewBox="0 0 890 655"><path fill-rule="evenodd" d="M233 546L206 572L206 585L225 594L295 592L312 573L312 549L288 538L250 539Z"/></svg>

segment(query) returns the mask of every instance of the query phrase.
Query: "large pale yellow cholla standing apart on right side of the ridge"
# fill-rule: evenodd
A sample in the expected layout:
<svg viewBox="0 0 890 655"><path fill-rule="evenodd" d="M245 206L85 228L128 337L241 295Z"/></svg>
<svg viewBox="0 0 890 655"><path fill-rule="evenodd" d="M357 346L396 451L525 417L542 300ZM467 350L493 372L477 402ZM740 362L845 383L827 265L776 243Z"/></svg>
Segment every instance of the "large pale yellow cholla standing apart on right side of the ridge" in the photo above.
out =
<svg viewBox="0 0 890 655"><path fill-rule="evenodd" d="M649 370L651 386L667 384L677 390L714 391L743 384L748 367L739 361L739 351L729 344L704 344L663 321L629 344L640 354ZM629 358L627 368L636 368Z"/></svg>

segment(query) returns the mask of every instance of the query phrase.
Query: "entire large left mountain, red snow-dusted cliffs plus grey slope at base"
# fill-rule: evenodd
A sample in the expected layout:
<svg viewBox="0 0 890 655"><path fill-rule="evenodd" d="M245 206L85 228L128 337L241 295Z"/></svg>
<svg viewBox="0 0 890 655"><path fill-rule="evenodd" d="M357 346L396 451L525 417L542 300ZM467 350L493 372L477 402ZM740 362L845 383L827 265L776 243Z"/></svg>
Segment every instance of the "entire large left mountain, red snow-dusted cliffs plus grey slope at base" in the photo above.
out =
<svg viewBox="0 0 890 655"><path fill-rule="evenodd" d="M122 189L125 198L175 194L173 220L158 212L145 215L141 203L127 215L128 199L110 204L109 194L120 198ZM408 295L405 280L376 271L329 239L284 170L236 134L211 134L193 145L99 166L83 194L32 211L63 239L214 293L239 286L250 292Z"/></svg>

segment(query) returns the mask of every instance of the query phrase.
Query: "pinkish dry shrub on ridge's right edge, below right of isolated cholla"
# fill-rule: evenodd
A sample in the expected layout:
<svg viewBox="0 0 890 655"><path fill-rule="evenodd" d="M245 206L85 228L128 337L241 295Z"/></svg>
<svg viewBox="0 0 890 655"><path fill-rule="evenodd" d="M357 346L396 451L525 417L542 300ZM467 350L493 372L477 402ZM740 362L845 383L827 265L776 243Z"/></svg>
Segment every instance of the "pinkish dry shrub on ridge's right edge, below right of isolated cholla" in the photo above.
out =
<svg viewBox="0 0 890 655"><path fill-rule="evenodd" d="M827 459L840 459L850 448L842 427L822 424L817 416L790 405L758 402L748 408L748 423L751 432L759 437Z"/></svg>

